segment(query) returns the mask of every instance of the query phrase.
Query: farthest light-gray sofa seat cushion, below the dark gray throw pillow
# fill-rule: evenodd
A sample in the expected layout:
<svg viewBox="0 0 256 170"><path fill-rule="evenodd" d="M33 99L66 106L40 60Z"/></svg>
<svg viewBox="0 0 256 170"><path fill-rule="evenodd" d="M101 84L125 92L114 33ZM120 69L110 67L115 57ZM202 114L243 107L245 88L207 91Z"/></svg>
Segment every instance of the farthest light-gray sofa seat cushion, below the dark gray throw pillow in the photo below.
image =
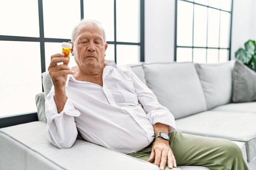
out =
<svg viewBox="0 0 256 170"><path fill-rule="evenodd" d="M213 108L211 111L256 113L256 102L229 103Z"/></svg>

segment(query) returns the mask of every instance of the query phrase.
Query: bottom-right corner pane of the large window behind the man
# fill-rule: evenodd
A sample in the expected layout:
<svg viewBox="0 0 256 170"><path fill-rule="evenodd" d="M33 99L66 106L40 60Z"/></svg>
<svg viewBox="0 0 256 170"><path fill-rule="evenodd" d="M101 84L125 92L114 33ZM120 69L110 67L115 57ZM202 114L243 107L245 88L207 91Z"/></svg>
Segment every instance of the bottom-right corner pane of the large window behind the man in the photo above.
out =
<svg viewBox="0 0 256 170"><path fill-rule="evenodd" d="M140 46L116 45L116 64L136 64L140 60Z"/></svg>

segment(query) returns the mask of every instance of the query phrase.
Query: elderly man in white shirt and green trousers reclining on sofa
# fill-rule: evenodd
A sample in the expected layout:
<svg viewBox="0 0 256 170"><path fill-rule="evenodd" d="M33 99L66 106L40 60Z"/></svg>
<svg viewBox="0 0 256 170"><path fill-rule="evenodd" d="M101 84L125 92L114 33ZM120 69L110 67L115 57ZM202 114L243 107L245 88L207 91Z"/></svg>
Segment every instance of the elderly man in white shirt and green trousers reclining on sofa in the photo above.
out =
<svg viewBox="0 0 256 170"><path fill-rule="evenodd" d="M161 170L198 165L212 170L248 170L240 148L224 139L175 130L169 110L131 71L105 60L105 31L95 20L83 20L72 34L76 71L51 56L48 71L54 86L47 96L47 139L70 148L78 131L89 142L154 162ZM167 167L166 167L167 168Z"/></svg>

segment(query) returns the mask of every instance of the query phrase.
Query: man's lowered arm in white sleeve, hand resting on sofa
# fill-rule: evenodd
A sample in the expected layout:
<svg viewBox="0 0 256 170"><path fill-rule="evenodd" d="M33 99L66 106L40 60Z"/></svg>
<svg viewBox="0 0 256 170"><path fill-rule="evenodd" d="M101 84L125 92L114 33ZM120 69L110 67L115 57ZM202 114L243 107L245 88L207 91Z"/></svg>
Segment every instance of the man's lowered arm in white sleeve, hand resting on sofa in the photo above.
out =
<svg viewBox="0 0 256 170"><path fill-rule="evenodd" d="M166 107L160 105L154 93L133 72L131 72L131 77L139 102L143 105L149 121L154 125L155 135L160 132L168 134L174 130L175 119L172 113ZM154 141L148 161L154 161L161 170L166 167L166 162L168 162L169 168L177 166L169 141L161 137Z"/></svg>

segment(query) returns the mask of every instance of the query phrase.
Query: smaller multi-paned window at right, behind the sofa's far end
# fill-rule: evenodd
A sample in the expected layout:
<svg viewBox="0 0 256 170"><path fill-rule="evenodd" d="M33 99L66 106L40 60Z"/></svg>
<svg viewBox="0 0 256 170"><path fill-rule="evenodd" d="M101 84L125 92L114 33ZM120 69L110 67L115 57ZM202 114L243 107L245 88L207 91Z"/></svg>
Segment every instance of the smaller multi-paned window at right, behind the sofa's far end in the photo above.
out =
<svg viewBox="0 0 256 170"><path fill-rule="evenodd" d="M176 0L175 61L230 59L232 0Z"/></svg>

